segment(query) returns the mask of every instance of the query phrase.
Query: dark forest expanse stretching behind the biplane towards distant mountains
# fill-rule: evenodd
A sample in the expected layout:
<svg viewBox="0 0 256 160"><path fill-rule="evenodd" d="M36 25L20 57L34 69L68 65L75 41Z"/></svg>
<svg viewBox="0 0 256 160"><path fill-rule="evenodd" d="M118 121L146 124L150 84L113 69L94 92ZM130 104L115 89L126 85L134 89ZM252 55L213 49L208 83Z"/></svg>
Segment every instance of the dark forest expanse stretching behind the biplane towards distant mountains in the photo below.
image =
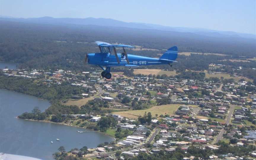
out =
<svg viewBox="0 0 256 160"><path fill-rule="evenodd" d="M96 40L109 43L140 45L156 51L129 50L129 53L157 57L159 53L177 45L179 52L224 53L239 56L255 56L255 40L233 37L207 37L193 33L133 29L125 27L103 27L93 25L47 25L1 21L0 61L19 62L21 68L68 68L90 70L84 66L86 51L98 52ZM200 56L202 57L202 56ZM209 61L199 56L178 57L186 60L183 68L201 69ZM222 60L220 56L206 59ZM193 60L193 61L191 61ZM183 65L185 63L182 63ZM177 67L177 66L176 66Z"/></svg>

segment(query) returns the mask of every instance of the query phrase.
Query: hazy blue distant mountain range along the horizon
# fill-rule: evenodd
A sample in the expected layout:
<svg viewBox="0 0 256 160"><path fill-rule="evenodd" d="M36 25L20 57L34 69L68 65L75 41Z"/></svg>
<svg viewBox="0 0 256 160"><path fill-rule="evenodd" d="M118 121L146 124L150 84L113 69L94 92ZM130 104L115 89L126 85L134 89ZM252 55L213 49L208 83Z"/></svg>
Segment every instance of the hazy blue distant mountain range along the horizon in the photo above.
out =
<svg viewBox="0 0 256 160"><path fill-rule="evenodd" d="M256 39L256 35L228 32L228 31L217 31L209 30L204 28L188 28L188 27L168 27L162 25L148 24L148 23L135 23L135 22L122 22L115 19L107 18L53 18L53 17L39 17L39 18L14 18L8 16L0 16L2 21L12 22L26 22L26 23L37 23L37 24L55 24L55 25L98 25L108 27L128 27L137 29L149 29L149 30L162 30L162 31L173 31L173 32L190 32L197 35L204 35L209 37L241 37L241 38L253 38Z"/></svg>

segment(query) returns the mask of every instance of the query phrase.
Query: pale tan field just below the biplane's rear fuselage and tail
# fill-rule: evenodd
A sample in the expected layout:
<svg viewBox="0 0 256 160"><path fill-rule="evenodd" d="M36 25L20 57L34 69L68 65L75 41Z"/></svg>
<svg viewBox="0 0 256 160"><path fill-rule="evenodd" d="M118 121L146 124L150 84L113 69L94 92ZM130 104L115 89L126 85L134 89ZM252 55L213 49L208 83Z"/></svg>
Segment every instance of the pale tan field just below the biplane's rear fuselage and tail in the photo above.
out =
<svg viewBox="0 0 256 160"><path fill-rule="evenodd" d="M155 75L162 75L166 74L167 76L176 76L176 71L162 71L161 69L134 69L133 71L134 74L144 74L144 75L149 75L149 74L155 74Z"/></svg>

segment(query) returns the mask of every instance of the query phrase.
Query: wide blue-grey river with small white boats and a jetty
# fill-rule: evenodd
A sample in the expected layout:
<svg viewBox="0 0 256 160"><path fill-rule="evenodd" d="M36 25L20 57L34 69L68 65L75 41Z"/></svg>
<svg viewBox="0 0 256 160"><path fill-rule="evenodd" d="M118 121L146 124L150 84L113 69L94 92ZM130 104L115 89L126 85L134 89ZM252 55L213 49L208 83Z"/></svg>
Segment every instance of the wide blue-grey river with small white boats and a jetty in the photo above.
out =
<svg viewBox="0 0 256 160"><path fill-rule="evenodd" d="M112 137L99 132L78 133L77 130L85 129L16 118L34 107L44 111L49 105L46 100L0 89L0 152L52 160L52 154L60 146L69 151L113 141Z"/></svg>

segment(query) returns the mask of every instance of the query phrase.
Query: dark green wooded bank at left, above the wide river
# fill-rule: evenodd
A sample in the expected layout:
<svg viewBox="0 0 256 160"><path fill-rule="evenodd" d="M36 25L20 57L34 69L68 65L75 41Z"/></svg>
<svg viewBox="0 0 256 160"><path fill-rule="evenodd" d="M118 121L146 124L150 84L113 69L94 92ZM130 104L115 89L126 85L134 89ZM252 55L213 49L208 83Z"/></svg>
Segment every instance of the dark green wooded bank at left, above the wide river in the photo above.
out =
<svg viewBox="0 0 256 160"><path fill-rule="evenodd" d="M36 79L4 76L0 75L0 89L20 92L38 98L47 99L50 102L56 102L61 99L68 99L73 95L81 95L84 88L81 86L71 86L63 81L61 84L46 85Z"/></svg>

